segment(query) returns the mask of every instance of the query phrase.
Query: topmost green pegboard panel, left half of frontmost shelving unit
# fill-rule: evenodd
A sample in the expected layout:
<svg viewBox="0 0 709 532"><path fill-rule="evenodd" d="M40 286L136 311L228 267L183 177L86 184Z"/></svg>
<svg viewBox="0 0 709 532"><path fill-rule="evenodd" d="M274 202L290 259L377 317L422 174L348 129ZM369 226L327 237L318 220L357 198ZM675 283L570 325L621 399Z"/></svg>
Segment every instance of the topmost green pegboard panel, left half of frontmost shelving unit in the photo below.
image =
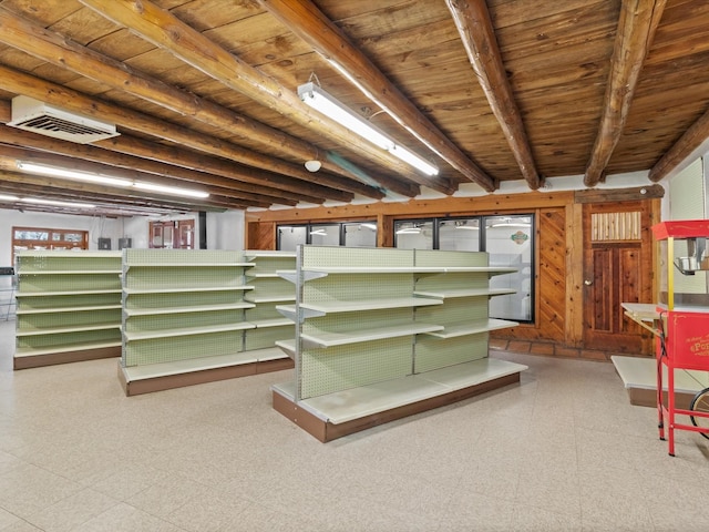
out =
<svg viewBox="0 0 709 532"><path fill-rule="evenodd" d="M302 246L304 268L411 267L413 249Z"/></svg>

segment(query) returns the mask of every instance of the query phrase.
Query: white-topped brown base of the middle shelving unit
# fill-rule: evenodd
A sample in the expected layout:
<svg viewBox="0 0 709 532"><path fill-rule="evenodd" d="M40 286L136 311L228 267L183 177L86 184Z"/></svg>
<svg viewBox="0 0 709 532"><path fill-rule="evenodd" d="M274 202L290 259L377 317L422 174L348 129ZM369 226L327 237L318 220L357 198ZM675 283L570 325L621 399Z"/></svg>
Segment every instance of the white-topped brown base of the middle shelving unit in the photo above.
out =
<svg viewBox="0 0 709 532"><path fill-rule="evenodd" d="M119 380L123 391L130 397L292 369L292 367L294 361L279 348L274 347L127 368L119 362Z"/></svg>

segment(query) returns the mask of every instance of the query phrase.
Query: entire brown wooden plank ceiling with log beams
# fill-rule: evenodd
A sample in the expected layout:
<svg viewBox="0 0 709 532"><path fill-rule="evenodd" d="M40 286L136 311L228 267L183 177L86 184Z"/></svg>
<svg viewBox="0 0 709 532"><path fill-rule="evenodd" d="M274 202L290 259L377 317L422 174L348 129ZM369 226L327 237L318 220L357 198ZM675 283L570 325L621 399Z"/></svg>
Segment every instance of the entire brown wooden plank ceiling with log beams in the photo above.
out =
<svg viewBox="0 0 709 532"><path fill-rule="evenodd" d="M121 216L535 191L569 175L594 187L636 171L649 184L709 135L707 65L709 2L696 0L0 0L0 195ZM309 81L439 175L310 110L297 95ZM18 95L120 135L76 144L6 125Z"/></svg>

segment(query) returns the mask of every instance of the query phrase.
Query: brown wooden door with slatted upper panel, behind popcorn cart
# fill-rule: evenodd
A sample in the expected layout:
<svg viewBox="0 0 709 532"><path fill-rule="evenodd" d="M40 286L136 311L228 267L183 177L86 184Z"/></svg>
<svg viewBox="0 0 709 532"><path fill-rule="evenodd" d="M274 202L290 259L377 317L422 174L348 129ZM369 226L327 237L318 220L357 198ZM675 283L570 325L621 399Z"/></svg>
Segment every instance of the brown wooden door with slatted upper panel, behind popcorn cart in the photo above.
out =
<svg viewBox="0 0 709 532"><path fill-rule="evenodd" d="M650 202L584 205L584 348L653 354L621 303L653 303Z"/></svg>

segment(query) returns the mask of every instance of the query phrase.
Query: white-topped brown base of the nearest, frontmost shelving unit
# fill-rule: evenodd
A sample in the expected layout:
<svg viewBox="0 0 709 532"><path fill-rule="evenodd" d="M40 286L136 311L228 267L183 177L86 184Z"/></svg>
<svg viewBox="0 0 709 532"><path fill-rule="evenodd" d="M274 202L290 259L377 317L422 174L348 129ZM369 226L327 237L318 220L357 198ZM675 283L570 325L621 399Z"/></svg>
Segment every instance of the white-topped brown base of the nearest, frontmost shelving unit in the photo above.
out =
<svg viewBox="0 0 709 532"><path fill-rule="evenodd" d="M425 374L295 401L294 382L271 387L274 409L321 442L520 382L521 364L483 358Z"/></svg>

